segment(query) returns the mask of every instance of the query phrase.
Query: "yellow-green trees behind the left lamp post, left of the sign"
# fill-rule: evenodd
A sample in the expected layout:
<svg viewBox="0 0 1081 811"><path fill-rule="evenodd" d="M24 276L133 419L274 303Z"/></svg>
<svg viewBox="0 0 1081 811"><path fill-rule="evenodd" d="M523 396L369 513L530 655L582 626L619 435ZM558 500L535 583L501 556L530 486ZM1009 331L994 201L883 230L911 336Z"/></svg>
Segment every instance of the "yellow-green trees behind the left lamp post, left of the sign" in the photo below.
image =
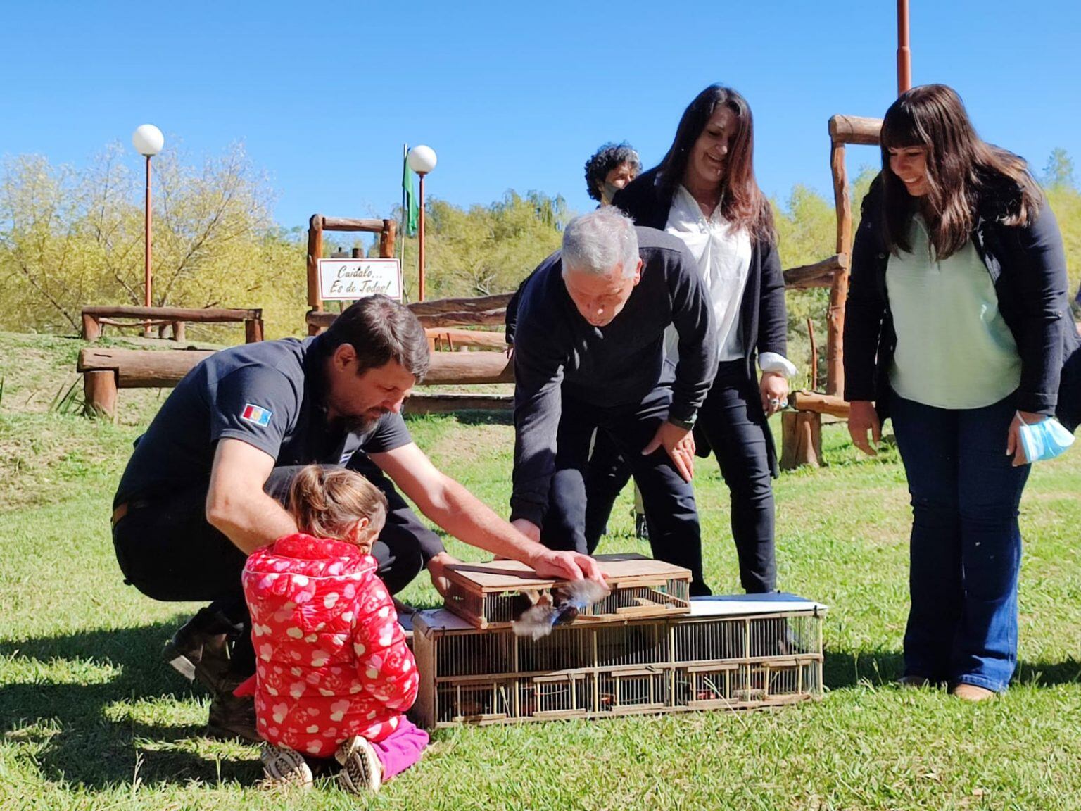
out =
<svg viewBox="0 0 1081 811"><path fill-rule="evenodd" d="M123 156L110 146L81 172L39 156L5 164L0 324L78 330L88 304L144 303L142 177ZM243 148L198 168L166 152L152 167L152 303L263 307L268 332L302 330L304 248L275 226Z"/></svg>

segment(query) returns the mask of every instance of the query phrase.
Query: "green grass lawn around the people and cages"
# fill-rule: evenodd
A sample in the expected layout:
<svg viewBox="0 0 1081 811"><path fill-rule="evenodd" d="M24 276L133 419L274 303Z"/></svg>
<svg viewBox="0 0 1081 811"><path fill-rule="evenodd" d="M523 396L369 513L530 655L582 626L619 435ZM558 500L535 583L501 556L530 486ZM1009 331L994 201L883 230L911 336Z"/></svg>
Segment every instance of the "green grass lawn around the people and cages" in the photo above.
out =
<svg viewBox="0 0 1081 811"><path fill-rule="evenodd" d="M824 469L776 484L779 583L826 602L823 701L433 735L375 798L330 784L256 787L254 746L203 734L208 696L159 660L198 608L124 586L112 491L168 393L120 394L90 421L64 393L80 342L0 335L0 809L1057 809L1081 808L1081 451L1033 470L1017 680L963 704L891 682L900 667L909 508L895 451L860 460L843 425ZM78 386L76 387L78 390ZM497 510L511 428L469 415L411 422L422 448ZM737 591L728 493L699 461L706 575ZM648 551L625 493L602 551ZM480 556L457 542L464 558ZM414 583L405 599L437 603Z"/></svg>

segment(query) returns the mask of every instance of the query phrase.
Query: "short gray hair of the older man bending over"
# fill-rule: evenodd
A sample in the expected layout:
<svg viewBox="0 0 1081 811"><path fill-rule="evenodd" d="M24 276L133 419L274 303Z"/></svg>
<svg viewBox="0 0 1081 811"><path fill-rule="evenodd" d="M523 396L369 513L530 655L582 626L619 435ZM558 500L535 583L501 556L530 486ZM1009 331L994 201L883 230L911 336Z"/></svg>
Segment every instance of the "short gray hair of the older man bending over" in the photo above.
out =
<svg viewBox="0 0 1081 811"><path fill-rule="evenodd" d="M635 224L612 205L575 217L563 230L563 276L568 269L608 276L618 266L620 277L629 279L638 258Z"/></svg>

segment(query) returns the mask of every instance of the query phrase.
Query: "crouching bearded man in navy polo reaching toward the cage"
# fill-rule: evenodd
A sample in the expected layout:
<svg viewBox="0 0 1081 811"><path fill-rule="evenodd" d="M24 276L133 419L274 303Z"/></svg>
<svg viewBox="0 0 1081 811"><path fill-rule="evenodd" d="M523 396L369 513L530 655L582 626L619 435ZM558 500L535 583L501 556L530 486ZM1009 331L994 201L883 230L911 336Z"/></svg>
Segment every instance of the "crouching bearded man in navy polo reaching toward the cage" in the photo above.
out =
<svg viewBox="0 0 1081 811"><path fill-rule="evenodd" d="M148 597L212 601L165 655L211 689L213 731L258 740L251 697L232 695L255 672L240 573L249 554L297 531L282 504L307 464L348 466L386 494L386 524L372 554L391 593L424 568L443 590L444 567L454 560L395 484L468 544L546 576L600 580L591 558L524 537L413 443L399 412L428 361L416 316L371 296L322 335L210 356L137 440L112 505L117 560Z"/></svg>

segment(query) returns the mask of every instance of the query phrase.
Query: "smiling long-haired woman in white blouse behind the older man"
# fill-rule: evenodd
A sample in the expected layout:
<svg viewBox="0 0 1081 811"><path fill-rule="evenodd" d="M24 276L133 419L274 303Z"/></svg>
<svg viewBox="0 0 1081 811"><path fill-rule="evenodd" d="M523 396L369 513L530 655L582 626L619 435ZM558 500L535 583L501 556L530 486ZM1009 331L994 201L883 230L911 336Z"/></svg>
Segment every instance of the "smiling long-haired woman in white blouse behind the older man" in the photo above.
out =
<svg viewBox="0 0 1081 811"><path fill-rule="evenodd" d="M753 169L747 101L712 84L683 112L658 167L615 196L638 225L683 240L709 290L720 346L698 414L732 496L732 536L748 593L773 591L776 451L766 417L788 396L788 316L770 202ZM755 369L758 359L761 381Z"/></svg>

